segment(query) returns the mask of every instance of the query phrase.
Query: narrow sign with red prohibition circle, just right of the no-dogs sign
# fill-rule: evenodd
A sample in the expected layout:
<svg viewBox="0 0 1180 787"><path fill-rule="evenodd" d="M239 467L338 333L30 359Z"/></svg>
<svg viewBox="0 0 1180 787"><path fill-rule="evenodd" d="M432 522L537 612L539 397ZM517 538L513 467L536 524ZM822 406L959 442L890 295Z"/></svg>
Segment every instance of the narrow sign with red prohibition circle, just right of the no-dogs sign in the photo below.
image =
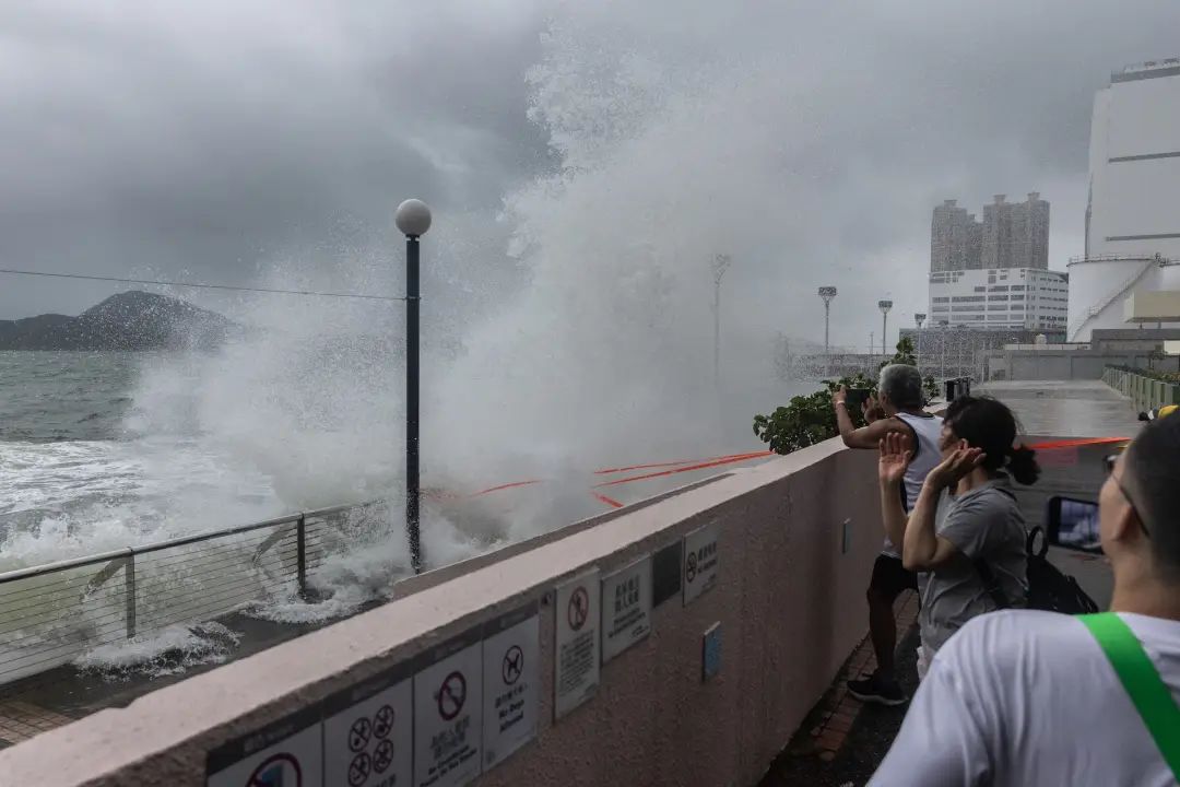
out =
<svg viewBox="0 0 1180 787"><path fill-rule="evenodd" d="M590 592L591 590L596 592ZM553 714L566 715L598 687L598 570L557 589Z"/></svg>

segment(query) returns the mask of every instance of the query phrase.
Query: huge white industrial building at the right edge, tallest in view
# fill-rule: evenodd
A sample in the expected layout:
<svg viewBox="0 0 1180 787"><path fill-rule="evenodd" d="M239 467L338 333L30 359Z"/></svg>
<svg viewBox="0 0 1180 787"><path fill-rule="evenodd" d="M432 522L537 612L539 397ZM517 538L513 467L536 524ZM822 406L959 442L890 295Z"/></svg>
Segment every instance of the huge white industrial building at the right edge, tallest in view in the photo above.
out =
<svg viewBox="0 0 1180 787"><path fill-rule="evenodd" d="M1180 58L1112 74L1094 98L1086 256L1069 263L1071 342L1123 328L1136 293L1180 289Z"/></svg>

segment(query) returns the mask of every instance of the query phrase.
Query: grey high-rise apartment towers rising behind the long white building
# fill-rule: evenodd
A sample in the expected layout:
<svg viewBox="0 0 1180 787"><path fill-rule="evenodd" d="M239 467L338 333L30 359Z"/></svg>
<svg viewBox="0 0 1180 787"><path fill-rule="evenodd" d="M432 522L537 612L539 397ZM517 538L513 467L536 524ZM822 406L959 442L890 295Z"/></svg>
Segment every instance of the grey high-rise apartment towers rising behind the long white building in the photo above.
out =
<svg viewBox="0 0 1180 787"><path fill-rule="evenodd" d="M1032 191L1027 202L996 195L983 222L948 199L930 227L930 271L1001 268L1049 269L1049 203Z"/></svg>

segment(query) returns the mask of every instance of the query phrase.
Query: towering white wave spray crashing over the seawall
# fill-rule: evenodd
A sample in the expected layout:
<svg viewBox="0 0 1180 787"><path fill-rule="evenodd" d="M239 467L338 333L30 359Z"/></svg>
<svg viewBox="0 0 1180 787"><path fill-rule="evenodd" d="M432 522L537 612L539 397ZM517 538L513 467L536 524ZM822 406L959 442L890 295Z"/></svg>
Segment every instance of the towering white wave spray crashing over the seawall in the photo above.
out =
<svg viewBox="0 0 1180 787"><path fill-rule="evenodd" d="M608 5L564 7L527 74L530 114L559 165L509 194L498 224L444 212L424 241L424 485L464 494L548 481L514 491L511 504L428 507L434 563L601 511L589 494L596 467L759 448L750 414L793 393L774 378L773 343L801 324L795 296L767 291L758 271L779 260L802 270L811 261L791 257L798 237L839 236L835 219L798 210L807 178L828 165L809 147L826 130L788 123L806 110L801 86L814 74L769 33L728 51L713 34L722 15L663 29L649 25L650 9ZM686 47L700 50L696 67L671 67ZM788 130L799 137L791 144ZM260 278L398 293L396 245L385 237L284 260ZM734 260L721 290L720 380L717 254ZM111 450L130 467L124 498L11 533L6 559L396 499L401 310L280 299L236 307L244 337L143 360L130 439ZM654 491L636 487L631 499ZM256 614L313 621L359 609L406 563L396 522L388 533L328 558L316 578L326 601L273 599Z"/></svg>

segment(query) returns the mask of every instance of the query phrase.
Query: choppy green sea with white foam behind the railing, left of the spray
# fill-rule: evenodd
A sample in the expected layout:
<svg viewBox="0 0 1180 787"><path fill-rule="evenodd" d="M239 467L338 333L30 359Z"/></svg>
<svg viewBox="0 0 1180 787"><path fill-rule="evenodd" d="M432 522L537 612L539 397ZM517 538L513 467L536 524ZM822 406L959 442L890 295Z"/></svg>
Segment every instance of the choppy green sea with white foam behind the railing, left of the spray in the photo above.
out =
<svg viewBox="0 0 1180 787"><path fill-rule="evenodd" d="M136 387L160 360L0 353L0 570L284 510L263 473L199 435L137 428Z"/></svg>

